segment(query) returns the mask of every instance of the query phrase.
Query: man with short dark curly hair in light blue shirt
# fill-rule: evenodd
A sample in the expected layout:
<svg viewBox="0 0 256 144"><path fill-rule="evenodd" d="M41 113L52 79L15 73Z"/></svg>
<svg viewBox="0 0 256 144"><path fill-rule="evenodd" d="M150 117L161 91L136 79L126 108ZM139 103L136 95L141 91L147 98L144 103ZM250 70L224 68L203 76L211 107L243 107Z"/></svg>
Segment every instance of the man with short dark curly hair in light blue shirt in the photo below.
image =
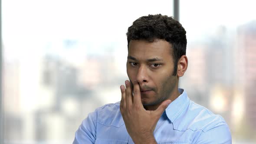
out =
<svg viewBox="0 0 256 144"><path fill-rule="evenodd" d="M186 31L172 17L142 16L128 28L127 74L121 101L97 108L73 144L231 144L219 115L178 88L186 72Z"/></svg>

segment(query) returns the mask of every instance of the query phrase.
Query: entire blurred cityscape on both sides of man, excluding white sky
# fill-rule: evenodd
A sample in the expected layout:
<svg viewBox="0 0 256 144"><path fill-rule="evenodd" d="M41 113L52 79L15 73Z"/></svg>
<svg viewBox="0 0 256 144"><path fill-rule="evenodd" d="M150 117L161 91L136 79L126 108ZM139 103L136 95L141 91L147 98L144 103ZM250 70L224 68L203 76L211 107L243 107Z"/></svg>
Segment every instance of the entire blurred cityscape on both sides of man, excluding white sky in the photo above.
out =
<svg viewBox="0 0 256 144"><path fill-rule="evenodd" d="M206 36L206 41L188 43L189 67L180 87L190 99L222 115L233 139L256 142L256 21L233 31L225 26L216 31ZM72 49L84 46L84 42L71 39L45 46L52 49L56 43L70 55ZM3 49L7 49L4 43ZM119 49L127 51L126 47ZM125 69L120 67L125 65L126 57L116 59L114 51L109 46L104 55L85 52L75 62L47 52L30 59L34 65L5 60L6 144L27 140L72 143L76 129L89 112L106 104L108 95L115 95L110 102L120 98L119 85L127 79ZM120 61L124 63L120 65Z"/></svg>

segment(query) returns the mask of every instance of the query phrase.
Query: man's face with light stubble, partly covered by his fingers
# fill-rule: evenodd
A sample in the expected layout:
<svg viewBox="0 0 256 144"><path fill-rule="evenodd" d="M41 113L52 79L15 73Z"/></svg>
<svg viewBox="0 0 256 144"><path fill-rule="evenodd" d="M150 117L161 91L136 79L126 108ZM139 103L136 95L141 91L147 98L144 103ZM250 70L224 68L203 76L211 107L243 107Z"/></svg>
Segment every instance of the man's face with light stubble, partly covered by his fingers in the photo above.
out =
<svg viewBox="0 0 256 144"><path fill-rule="evenodd" d="M144 106L158 105L177 90L178 77L172 75L174 60L171 52L171 45L165 40L130 41L127 74L132 85L139 83Z"/></svg>

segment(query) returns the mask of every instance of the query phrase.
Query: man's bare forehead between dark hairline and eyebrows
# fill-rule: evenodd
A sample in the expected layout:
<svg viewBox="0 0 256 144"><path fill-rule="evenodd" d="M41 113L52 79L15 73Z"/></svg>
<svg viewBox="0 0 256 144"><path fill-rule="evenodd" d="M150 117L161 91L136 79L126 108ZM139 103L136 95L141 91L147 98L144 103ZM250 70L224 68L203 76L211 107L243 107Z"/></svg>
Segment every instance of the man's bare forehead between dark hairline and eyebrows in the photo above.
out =
<svg viewBox="0 0 256 144"><path fill-rule="evenodd" d="M128 56L135 57L138 60L160 58L172 59L171 44L165 40L157 39L154 42L146 40L131 40L128 47Z"/></svg>

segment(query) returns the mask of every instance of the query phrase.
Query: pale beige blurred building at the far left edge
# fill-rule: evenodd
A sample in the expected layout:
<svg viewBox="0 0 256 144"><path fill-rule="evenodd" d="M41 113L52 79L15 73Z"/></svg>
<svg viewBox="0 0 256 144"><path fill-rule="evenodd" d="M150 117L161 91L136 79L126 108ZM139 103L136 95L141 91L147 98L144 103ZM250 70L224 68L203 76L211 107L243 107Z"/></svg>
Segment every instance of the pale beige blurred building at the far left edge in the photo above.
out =
<svg viewBox="0 0 256 144"><path fill-rule="evenodd" d="M8 79L7 79L8 78ZM3 65L4 139L17 141L22 137L20 115L20 63L5 61Z"/></svg>

